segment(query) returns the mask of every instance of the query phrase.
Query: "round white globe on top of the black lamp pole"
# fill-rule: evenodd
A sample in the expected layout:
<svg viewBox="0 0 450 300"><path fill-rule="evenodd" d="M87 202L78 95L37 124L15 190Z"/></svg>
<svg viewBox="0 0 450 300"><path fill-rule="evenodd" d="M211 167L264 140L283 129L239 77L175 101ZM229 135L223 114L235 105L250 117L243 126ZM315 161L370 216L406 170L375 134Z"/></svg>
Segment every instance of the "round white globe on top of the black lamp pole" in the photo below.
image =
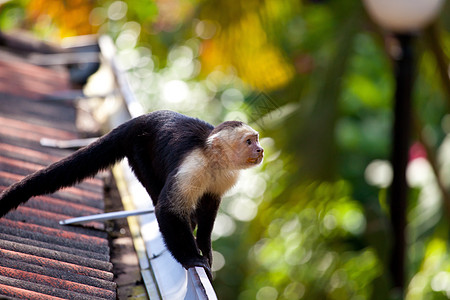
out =
<svg viewBox="0 0 450 300"><path fill-rule="evenodd" d="M370 16L396 33L420 30L439 13L444 0L364 0Z"/></svg>

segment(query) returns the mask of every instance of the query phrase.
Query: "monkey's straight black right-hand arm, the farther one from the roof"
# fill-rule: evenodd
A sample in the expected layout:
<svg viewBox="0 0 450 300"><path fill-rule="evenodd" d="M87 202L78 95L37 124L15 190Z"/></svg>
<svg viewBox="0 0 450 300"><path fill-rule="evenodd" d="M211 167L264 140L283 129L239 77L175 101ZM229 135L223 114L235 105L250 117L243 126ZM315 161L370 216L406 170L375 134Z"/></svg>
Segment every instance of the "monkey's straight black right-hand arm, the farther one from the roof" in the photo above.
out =
<svg viewBox="0 0 450 300"><path fill-rule="evenodd" d="M214 220L219 210L220 197L212 194L205 194L198 204L197 216L197 245L202 251L203 257L208 259L212 266L211 233L214 227Z"/></svg>

